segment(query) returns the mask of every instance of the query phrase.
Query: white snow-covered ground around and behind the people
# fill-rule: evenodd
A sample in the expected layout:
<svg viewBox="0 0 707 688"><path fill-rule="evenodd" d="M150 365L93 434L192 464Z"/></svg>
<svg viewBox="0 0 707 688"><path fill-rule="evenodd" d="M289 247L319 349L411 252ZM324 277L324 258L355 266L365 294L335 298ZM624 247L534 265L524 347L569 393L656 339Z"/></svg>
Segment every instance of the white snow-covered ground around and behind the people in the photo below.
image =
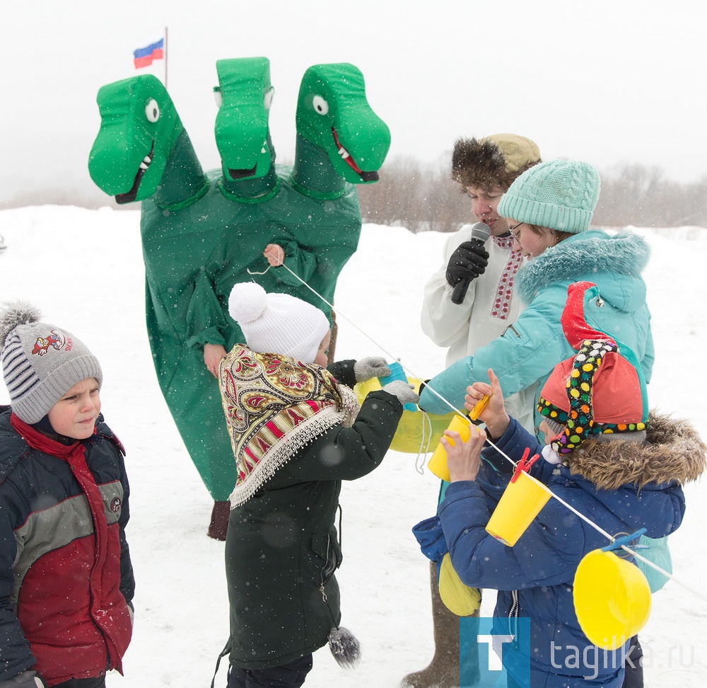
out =
<svg viewBox="0 0 707 688"><path fill-rule="evenodd" d="M707 436L703 393L707 309L701 272L707 229L643 230L653 247L645 275L658 352L653 406L691 418ZM103 412L127 447L132 486L128 538L137 579L136 625L114 688L208 687L228 636L223 544L206 537L211 500L160 395L144 327L139 212L32 207L0 212L0 301L26 299L73 331L100 358ZM337 357L395 357L416 377L443 367L444 352L419 327L421 289L438 267L444 235L366 225L339 280ZM345 317L344 317L345 316ZM355 323L351 325L348 321ZM357 329L367 333L373 341ZM374 343L375 342L375 343ZM4 386L0 402L7 402ZM309 688L393 688L432 655L428 564L410 529L433 514L438 481L414 454L390 452L342 491L344 565L337 574L343 623L363 663L341 670L322 648ZM671 539L677 583L653 597L641 631L650 688L697 688L707 675L706 483L686 489L688 512ZM491 615L486 592L484 612ZM225 685L222 667L217 687Z"/></svg>

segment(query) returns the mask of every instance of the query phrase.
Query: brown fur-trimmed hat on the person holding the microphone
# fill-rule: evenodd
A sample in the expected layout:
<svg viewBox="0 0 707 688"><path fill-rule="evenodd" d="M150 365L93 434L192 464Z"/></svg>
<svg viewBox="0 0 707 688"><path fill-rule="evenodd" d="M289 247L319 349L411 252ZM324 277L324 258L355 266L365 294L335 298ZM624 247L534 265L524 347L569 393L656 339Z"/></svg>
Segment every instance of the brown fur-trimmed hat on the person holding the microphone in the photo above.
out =
<svg viewBox="0 0 707 688"><path fill-rule="evenodd" d="M452 151L452 180L462 185L503 190L540 162L540 150L518 134L493 134L484 139L457 139Z"/></svg>

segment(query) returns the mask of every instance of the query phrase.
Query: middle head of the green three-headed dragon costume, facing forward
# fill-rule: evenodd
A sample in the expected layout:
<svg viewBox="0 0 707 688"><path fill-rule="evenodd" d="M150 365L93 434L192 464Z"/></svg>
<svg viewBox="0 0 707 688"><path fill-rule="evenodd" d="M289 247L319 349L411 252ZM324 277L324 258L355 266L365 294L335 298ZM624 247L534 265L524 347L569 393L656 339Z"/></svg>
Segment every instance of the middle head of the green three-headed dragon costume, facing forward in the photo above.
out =
<svg viewBox="0 0 707 688"><path fill-rule="evenodd" d="M274 160L268 120L274 88L267 57L219 59L216 147L232 179L264 177Z"/></svg>

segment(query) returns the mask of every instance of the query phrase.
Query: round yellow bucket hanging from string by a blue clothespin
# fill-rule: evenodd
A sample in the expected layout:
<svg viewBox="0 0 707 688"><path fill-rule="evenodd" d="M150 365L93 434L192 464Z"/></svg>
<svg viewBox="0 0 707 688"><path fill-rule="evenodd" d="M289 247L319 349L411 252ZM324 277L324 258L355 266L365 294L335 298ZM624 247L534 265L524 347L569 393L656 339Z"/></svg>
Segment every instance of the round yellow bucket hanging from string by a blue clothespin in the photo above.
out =
<svg viewBox="0 0 707 688"><path fill-rule="evenodd" d="M641 569L601 549L580 561L573 599L581 629L604 650L620 648L650 616L650 585Z"/></svg>

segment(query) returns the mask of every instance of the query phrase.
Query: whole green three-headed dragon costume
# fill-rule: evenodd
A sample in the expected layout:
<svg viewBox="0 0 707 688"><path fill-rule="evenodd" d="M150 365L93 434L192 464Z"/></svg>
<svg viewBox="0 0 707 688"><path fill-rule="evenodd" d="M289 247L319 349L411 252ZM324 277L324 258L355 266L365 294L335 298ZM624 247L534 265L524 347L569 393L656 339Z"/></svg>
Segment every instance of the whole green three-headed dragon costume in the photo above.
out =
<svg viewBox="0 0 707 688"><path fill-rule="evenodd" d="M229 350L245 341L228 316L236 282L257 281L331 316L284 267L254 273L267 269L264 248L277 243L284 265L332 302L361 232L354 184L378 179L390 132L370 109L356 67L310 67L298 98L295 164L275 166L269 62L219 60L217 71L222 170L204 174L170 96L150 75L100 88L101 128L88 166L118 202L142 202L146 319L158 381L206 488L224 501L235 463L203 346Z"/></svg>

